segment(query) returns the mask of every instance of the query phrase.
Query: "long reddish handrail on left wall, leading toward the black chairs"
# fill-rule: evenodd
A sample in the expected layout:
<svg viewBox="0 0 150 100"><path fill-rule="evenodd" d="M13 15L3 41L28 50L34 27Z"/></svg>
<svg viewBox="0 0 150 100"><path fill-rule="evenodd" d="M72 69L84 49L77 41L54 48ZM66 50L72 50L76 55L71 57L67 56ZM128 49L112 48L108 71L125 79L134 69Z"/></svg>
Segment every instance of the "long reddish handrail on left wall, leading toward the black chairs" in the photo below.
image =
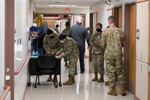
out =
<svg viewBox="0 0 150 100"><path fill-rule="evenodd" d="M24 65L27 63L27 61L29 61L30 54L31 54L31 51L29 50L28 53L27 53L27 55L26 55L26 57L25 57L24 60L23 60L23 63L22 63L22 64L19 66L19 68L14 72L15 75L18 75L18 74L22 71Z"/></svg>

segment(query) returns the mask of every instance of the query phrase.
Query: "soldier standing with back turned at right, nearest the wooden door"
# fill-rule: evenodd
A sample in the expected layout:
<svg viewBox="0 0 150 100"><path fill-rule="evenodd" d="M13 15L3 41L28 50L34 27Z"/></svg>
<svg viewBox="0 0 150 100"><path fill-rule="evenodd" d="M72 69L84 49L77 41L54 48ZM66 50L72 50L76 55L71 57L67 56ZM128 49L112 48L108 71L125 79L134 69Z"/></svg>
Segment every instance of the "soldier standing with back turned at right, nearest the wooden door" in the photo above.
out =
<svg viewBox="0 0 150 100"><path fill-rule="evenodd" d="M110 91L108 95L117 96L116 83L119 83L120 94L125 96L125 76L122 62L124 34L114 25L115 18L108 18L109 28L102 35L102 47L105 48L104 58L109 78Z"/></svg>

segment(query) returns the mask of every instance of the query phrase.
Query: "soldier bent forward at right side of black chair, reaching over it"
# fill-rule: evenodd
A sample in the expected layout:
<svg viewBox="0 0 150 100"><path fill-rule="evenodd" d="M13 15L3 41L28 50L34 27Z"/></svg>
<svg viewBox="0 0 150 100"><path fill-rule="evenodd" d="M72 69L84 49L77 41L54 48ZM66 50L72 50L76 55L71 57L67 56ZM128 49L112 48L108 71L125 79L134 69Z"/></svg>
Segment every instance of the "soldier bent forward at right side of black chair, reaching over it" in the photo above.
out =
<svg viewBox="0 0 150 100"><path fill-rule="evenodd" d="M59 40L63 48L56 54L61 57L66 56L68 65L68 77L69 79L63 83L63 85L73 85L75 84L75 71L79 56L78 46L73 39L66 37L66 35L60 35Z"/></svg>

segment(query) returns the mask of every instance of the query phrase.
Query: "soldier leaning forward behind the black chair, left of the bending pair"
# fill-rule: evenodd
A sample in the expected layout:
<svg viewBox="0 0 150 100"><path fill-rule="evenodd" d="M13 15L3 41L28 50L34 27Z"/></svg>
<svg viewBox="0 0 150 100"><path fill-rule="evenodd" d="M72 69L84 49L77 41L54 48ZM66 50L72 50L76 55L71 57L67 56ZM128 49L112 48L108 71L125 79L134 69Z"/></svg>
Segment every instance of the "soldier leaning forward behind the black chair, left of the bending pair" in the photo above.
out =
<svg viewBox="0 0 150 100"><path fill-rule="evenodd" d="M53 30L47 29L47 34L43 41L43 47L47 54L55 55L56 52L58 52L61 49L59 35L54 33ZM51 75L49 76L47 81L52 81Z"/></svg>

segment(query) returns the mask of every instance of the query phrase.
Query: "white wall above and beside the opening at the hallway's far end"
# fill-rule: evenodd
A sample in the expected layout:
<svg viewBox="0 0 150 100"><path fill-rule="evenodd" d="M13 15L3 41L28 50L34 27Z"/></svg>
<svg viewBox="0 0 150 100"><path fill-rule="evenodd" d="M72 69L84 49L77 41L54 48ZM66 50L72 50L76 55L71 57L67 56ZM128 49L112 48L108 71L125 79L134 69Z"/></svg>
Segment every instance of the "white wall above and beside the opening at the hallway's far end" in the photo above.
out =
<svg viewBox="0 0 150 100"><path fill-rule="evenodd" d="M37 13L64 14L64 8L36 8ZM70 14L86 14L86 27L89 27L90 9L87 8L70 8Z"/></svg>

